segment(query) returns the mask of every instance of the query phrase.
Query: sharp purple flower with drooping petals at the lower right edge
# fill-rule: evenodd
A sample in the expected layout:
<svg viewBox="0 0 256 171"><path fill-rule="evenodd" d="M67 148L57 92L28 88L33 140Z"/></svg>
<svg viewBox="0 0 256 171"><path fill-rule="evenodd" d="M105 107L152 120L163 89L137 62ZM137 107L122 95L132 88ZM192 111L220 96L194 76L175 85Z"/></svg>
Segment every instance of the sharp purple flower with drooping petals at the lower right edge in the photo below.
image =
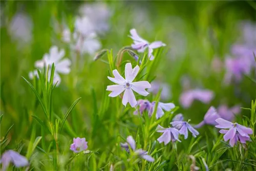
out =
<svg viewBox="0 0 256 171"><path fill-rule="evenodd" d="M225 134L223 136L224 141L229 140L229 144L231 146L234 146L234 144L236 144L238 141L244 144L246 143L246 141L250 140L249 134L252 134L252 129L250 129L249 127L245 127L238 123L232 123L222 118L216 119L216 122L218 123L218 125L216 125L215 127L222 129L220 130L220 133Z"/></svg>

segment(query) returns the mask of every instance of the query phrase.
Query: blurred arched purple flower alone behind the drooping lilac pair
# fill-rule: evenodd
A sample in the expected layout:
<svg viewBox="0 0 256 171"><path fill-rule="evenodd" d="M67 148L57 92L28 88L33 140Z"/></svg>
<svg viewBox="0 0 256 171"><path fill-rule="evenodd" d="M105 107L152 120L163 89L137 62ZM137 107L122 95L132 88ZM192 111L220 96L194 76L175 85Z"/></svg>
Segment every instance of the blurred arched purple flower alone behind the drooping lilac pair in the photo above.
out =
<svg viewBox="0 0 256 171"><path fill-rule="evenodd" d="M181 94L180 103L184 108L189 108L195 99L202 101L203 103L209 103L213 97L214 92L210 90L189 90Z"/></svg>

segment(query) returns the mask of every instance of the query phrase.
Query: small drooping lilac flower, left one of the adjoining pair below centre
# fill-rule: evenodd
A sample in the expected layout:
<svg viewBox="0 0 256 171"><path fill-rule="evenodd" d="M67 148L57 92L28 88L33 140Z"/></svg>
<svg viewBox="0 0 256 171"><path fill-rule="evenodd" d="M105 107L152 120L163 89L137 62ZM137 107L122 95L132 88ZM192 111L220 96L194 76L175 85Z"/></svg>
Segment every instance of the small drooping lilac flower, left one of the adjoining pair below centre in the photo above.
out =
<svg viewBox="0 0 256 171"><path fill-rule="evenodd" d="M164 142L164 145L168 144L171 140L174 141L179 141L179 131L175 129L174 127L168 127L164 128L160 125L157 126L157 132L158 133L163 133L157 140L159 143Z"/></svg>

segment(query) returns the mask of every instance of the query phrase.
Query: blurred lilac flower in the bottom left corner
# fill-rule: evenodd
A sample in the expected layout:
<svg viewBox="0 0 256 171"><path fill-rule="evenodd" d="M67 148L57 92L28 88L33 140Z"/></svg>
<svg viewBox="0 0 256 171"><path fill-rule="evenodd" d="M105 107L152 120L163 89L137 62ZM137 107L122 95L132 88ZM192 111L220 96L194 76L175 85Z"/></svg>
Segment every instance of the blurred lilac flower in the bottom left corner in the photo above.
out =
<svg viewBox="0 0 256 171"><path fill-rule="evenodd" d="M8 150L2 155L0 163L2 163L1 170L3 171L8 168L10 163L13 163L15 167L24 167L29 165L29 161L26 157L12 150Z"/></svg>

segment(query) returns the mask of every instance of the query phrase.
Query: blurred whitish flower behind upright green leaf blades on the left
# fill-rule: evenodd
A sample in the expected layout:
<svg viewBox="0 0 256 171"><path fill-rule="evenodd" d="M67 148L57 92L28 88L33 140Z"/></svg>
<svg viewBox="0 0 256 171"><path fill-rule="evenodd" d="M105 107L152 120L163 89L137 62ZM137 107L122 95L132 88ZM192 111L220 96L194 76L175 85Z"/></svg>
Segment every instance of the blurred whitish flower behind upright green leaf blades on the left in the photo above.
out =
<svg viewBox="0 0 256 171"><path fill-rule="evenodd" d="M63 59L65 56L65 51L61 49L58 51L58 48L56 46L51 47L50 53L46 53L41 60L37 60L35 62L35 67L42 71L44 68L48 68L50 66L50 71L51 71L51 66L54 63L55 66L55 72L54 72L54 78L53 78L53 83L60 83L61 78L59 76L59 73L61 74L69 74L70 73L70 65L71 61L68 58ZM34 76L37 76L37 71L32 71L29 73L30 79L32 79ZM48 79L50 80L50 72L48 75ZM58 85L57 84L57 85Z"/></svg>

